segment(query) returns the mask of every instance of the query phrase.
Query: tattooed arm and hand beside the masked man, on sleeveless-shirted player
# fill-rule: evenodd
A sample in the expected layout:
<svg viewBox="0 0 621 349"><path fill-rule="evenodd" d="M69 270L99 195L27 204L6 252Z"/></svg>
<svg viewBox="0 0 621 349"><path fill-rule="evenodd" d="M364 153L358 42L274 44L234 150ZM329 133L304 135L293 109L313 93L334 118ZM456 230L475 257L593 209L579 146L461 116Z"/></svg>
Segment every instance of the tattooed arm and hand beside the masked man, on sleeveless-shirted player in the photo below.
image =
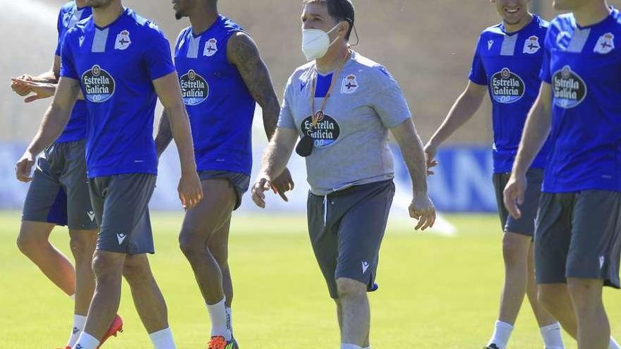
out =
<svg viewBox="0 0 621 349"><path fill-rule="evenodd" d="M229 62L237 67L246 87L263 109L263 127L269 141L276 130L280 106L270 72L267 71L267 66L261 59L258 47L248 34L236 32L227 44L227 57ZM289 170L285 169L278 178L272 181L272 185L274 191L278 192L283 200L288 201L284 193L294 188L294 181L291 179Z"/></svg>

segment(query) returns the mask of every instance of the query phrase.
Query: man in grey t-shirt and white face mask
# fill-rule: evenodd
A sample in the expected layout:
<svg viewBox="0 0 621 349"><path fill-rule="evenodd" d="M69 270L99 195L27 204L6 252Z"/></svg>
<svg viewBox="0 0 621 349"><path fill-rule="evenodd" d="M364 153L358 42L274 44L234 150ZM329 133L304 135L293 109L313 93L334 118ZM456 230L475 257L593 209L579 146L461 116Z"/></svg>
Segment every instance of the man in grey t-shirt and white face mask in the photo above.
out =
<svg viewBox="0 0 621 349"><path fill-rule="evenodd" d="M309 61L287 83L278 128L253 185L253 201L281 173L294 147L306 157L308 230L315 257L337 303L342 349L370 348L366 291L376 290L380 244L394 196L388 131L411 174L410 216L433 226L426 161L397 81L349 49L350 0L304 0L302 50ZM312 96L312 98L311 98Z"/></svg>

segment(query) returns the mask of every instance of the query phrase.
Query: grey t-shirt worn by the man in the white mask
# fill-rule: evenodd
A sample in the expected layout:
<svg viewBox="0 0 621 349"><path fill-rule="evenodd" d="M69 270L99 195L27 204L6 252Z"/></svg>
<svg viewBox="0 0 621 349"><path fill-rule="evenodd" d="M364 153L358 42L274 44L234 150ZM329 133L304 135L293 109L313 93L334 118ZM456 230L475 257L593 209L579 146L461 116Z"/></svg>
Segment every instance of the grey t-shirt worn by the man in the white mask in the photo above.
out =
<svg viewBox="0 0 621 349"><path fill-rule="evenodd" d="M311 124L310 90L315 62L289 78L278 119L279 128L301 135ZM330 75L331 76L331 75ZM318 77L318 81L329 77ZM320 109L326 84L318 82L315 112ZM325 116L313 133L313 153L306 157L307 180L315 195L378 182L394 177L388 149L388 129L411 118L411 112L386 68L353 52L337 80Z"/></svg>

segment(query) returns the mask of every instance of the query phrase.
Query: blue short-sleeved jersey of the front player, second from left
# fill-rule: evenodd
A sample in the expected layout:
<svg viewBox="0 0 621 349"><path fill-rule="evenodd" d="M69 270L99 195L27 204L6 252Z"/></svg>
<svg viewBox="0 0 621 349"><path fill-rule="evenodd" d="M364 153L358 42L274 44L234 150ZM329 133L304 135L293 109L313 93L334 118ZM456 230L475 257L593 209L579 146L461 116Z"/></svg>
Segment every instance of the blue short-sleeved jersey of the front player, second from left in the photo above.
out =
<svg viewBox="0 0 621 349"><path fill-rule="evenodd" d="M90 178L157 174L152 80L174 73L168 40L150 20L125 11L107 27L93 17L68 31L61 76L78 80L88 107Z"/></svg>

